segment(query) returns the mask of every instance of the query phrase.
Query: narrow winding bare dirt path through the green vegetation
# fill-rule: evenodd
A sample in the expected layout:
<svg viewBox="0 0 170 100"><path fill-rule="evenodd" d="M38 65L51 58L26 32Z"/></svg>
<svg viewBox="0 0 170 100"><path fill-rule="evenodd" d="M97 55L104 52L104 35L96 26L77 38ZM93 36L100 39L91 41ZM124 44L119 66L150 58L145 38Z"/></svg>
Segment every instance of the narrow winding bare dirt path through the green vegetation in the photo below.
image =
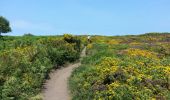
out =
<svg viewBox="0 0 170 100"><path fill-rule="evenodd" d="M85 50L81 53L81 58L85 56ZM80 58L80 59L81 59ZM74 68L80 66L80 62L69 64L67 67L55 70L50 73L50 79L45 83L43 91L44 100L70 100L67 80Z"/></svg>

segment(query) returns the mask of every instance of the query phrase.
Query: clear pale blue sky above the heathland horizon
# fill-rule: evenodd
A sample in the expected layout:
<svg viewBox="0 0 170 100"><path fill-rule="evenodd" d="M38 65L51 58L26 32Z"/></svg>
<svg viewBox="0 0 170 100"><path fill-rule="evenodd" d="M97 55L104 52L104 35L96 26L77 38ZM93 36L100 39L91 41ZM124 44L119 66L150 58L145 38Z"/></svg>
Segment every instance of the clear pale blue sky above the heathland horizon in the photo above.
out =
<svg viewBox="0 0 170 100"><path fill-rule="evenodd" d="M1 0L8 35L170 32L170 0Z"/></svg>

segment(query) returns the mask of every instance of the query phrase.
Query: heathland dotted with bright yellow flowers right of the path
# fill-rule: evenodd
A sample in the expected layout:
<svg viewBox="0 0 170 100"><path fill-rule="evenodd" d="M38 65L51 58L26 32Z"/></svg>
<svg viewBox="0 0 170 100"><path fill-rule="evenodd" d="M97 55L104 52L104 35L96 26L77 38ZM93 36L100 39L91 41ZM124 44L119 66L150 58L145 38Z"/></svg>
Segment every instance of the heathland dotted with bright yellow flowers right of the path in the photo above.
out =
<svg viewBox="0 0 170 100"><path fill-rule="evenodd" d="M169 100L170 34L93 36L69 84L73 100Z"/></svg>

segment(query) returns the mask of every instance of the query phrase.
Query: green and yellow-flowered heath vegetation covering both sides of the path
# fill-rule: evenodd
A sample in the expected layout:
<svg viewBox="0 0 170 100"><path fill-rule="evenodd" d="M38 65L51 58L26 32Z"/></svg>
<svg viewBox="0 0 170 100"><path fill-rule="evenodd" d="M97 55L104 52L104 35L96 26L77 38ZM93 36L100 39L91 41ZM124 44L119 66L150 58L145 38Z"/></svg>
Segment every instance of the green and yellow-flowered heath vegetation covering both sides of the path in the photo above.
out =
<svg viewBox="0 0 170 100"><path fill-rule="evenodd" d="M169 100L170 34L4 36L0 100L41 100L52 69L87 56L69 78L73 100Z"/></svg>

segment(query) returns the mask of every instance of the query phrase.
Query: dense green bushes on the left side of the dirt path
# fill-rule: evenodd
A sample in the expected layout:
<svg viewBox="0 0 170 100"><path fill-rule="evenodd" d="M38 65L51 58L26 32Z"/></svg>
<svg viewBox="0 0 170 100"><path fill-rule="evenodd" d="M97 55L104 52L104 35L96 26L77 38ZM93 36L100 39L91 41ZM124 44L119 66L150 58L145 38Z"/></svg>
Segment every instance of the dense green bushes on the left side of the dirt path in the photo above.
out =
<svg viewBox="0 0 170 100"><path fill-rule="evenodd" d="M80 54L76 43L62 37L4 38L1 44L6 47L0 50L1 100L41 99L41 88L50 70L75 61Z"/></svg>

